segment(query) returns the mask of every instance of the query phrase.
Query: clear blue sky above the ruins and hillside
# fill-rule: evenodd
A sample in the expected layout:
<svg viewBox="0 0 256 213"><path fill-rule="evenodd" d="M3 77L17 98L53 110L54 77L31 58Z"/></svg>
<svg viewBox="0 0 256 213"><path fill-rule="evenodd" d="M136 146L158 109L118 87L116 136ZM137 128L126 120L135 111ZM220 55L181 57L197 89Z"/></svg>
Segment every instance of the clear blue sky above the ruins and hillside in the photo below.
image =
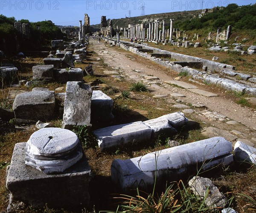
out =
<svg viewBox="0 0 256 213"><path fill-rule="evenodd" d="M0 0L0 14L14 16L16 20L30 22L52 20L56 25L79 26L84 13L90 17L90 25L100 23L101 16L124 18L140 16L144 6L145 14L188 11L227 6L255 4L256 0Z"/></svg>

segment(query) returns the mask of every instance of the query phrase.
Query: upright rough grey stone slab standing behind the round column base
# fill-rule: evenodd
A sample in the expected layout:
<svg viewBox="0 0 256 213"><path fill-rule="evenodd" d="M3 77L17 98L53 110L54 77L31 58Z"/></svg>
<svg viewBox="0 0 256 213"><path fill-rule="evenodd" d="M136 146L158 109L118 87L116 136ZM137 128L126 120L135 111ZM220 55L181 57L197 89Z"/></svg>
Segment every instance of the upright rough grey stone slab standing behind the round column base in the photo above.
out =
<svg viewBox="0 0 256 213"><path fill-rule="evenodd" d="M62 128L91 126L91 97L92 89L89 85L79 81L67 82Z"/></svg>

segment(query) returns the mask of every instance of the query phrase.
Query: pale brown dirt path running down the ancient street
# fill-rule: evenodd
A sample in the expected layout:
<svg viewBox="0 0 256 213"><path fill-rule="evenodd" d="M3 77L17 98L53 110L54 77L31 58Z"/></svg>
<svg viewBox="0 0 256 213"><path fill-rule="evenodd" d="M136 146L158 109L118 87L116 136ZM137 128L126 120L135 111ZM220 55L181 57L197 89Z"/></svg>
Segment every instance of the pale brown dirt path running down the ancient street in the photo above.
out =
<svg viewBox="0 0 256 213"><path fill-rule="evenodd" d="M225 91L223 92L221 89L211 88L210 86L206 85L195 84L198 89L203 89L205 91L218 94L216 97L206 97L190 92L187 89L169 85L164 82L173 80L173 78L177 77L177 74L174 71L118 47L111 47L105 43L98 44L96 40L90 40L90 44L92 44L90 48L92 48L99 55L99 57L108 64L108 66L118 71L120 75L124 75L127 81L141 81L143 79L142 75L154 75L158 79L151 81L156 81L157 85L160 85L160 87L157 89L151 88L151 92L153 94L168 95L165 97L165 99L170 104L177 104L175 99L180 99L182 101L181 104L192 104L199 102L207 107L206 109L193 108L195 111L195 116L201 121L214 127L218 127L221 130L225 129L229 132L231 130L238 130L242 133L243 138L247 138L249 140L251 138L256 138L255 109L241 107L240 105L234 103L232 99L225 96ZM174 98L171 95L172 93L180 93L186 97ZM177 109L177 111L179 110L182 109ZM226 116L228 120L230 119L237 121L240 124L227 124L226 119L225 121L219 121L218 119L217 121L210 121L209 118L203 114L206 112L209 113L209 111L218 112L218 114ZM241 137L241 135L239 135L239 137ZM251 142L255 143L255 141Z"/></svg>

